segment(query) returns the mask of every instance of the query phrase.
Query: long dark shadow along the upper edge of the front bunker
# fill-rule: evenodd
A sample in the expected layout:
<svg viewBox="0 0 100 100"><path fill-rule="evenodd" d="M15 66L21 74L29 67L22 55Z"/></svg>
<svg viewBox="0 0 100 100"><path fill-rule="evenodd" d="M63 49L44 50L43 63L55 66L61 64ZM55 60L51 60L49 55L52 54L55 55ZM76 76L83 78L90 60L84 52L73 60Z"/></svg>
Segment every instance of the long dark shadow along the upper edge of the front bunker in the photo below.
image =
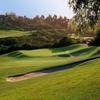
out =
<svg viewBox="0 0 100 100"><path fill-rule="evenodd" d="M32 71L32 72L28 72L28 73L25 73L25 74L19 74L19 75L14 75L14 76L9 76L9 77L16 78L16 77L21 77L21 76L24 76L24 75L30 74L30 73L35 73L35 74L47 73L47 74L49 74L49 73L53 73L53 72L57 72L57 71L61 71L61 70L70 69L70 68L76 67L76 66L78 66L82 63L85 63L85 62L88 62L88 61L91 61L91 60L94 60L94 59L98 59L98 58L100 58L100 55L97 56L97 57L91 57L91 58L88 58L88 59L85 59L85 60L73 62L73 63L67 64L67 65L44 68L42 70Z"/></svg>

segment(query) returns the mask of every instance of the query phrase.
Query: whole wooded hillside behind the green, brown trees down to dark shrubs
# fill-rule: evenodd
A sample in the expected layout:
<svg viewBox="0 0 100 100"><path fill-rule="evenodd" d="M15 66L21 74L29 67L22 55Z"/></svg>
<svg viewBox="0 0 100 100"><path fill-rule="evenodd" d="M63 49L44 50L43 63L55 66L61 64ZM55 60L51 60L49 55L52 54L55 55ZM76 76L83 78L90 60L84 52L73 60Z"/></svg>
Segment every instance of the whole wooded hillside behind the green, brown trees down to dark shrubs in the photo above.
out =
<svg viewBox="0 0 100 100"><path fill-rule="evenodd" d="M72 43L87 43L87 41L92 40L91 37L95 36L95 31L91 28L80 35L76 34L76 29L77 22L66 17L57 17L56 15L45 17L42 15L27 18L25 16L16 16L15 13L6 13L0 15L0 54L14 50L62 47ZM97 29L98 27L95 26L95 30ZM72 37L73 34L74 38ZM83 38L84 36L90 38ZM95 41L98 41L98 39L95 39ZM94 45L94 43L91 44Z"/></svg>

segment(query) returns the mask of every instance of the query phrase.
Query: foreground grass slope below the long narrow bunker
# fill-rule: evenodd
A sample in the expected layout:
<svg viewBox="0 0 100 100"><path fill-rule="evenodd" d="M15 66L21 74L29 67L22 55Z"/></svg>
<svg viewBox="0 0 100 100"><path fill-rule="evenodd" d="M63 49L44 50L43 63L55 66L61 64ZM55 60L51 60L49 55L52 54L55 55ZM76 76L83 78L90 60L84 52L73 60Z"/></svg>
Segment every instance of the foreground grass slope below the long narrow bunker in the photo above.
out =
<svg viewBox="0 0 100 100"><path fill-rule="evenodd" d="M100 100L100 59L22 82L0 79L1 100ZM6 69L5 69L6 70ZM8 74L8 70L1 70ZM12 71L12 70L11 70Z"/></svg>

